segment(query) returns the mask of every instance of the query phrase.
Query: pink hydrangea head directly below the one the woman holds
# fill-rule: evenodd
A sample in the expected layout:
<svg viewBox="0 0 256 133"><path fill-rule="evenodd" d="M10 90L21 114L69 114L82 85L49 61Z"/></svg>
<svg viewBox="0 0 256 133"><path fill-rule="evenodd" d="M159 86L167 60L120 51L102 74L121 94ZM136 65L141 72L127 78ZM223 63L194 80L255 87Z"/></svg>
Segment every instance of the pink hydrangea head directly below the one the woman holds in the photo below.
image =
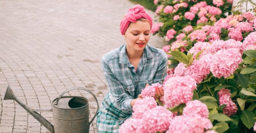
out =
<svg viewBox="0 0 256 133"><path fill-rule="evenodd" d="M157 102L153 97L145 97L141 100L136 100L132 110L134 111L132 113L133 118L142 118L142 114L148 110L155 108L157 106Z"/></svg>

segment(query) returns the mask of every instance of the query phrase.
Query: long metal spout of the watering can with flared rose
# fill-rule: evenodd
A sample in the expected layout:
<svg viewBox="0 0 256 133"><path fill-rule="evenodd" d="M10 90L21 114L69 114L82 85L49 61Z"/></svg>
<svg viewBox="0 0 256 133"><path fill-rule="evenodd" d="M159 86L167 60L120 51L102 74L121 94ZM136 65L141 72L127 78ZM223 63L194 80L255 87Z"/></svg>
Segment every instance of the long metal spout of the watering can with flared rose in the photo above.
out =
<svg viewBox="0 0 256 133"><path fill-rule="evenodd" d="M15 100L33 117L35 117L37 121L39 121L43 126L45 126L51 133L54 133L53 125L49 121L47 121L42 115L38 114L37 112L34 112L30 107L24 104L21 100L17 99L9 85L5 91L4 100Z"/></svg>

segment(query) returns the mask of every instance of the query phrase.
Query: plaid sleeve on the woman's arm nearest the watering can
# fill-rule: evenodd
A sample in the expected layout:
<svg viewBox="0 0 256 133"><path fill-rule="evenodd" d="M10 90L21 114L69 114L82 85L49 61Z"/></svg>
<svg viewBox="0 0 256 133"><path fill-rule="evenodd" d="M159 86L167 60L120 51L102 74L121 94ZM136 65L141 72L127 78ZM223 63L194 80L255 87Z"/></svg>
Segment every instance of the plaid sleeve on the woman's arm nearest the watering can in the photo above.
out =
<svg viewBox="0 0 256 133"><path fill-rule="evenodd" d="M131 106L131 100L133 100L133 97L127 91L125 91L123 85L115 77L108 63L104 59L101 59L101 64L111 95L114 97L123 112L132 113L133 110Z"/></svg>

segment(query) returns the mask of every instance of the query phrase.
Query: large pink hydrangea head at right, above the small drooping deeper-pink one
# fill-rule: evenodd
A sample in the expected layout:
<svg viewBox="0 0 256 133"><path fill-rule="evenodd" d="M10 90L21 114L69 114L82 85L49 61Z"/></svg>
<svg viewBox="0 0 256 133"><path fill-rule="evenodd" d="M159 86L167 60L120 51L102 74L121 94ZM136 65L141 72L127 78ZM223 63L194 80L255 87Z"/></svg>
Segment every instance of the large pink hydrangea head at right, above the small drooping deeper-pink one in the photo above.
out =
<svg viewBox="0 0 256 133"><path fill-rule="evenodd" d="M237 48L229 48L216 52L210 63L210 71L214 77L227 78L234 73L238 65L243 61Z"/></svg>

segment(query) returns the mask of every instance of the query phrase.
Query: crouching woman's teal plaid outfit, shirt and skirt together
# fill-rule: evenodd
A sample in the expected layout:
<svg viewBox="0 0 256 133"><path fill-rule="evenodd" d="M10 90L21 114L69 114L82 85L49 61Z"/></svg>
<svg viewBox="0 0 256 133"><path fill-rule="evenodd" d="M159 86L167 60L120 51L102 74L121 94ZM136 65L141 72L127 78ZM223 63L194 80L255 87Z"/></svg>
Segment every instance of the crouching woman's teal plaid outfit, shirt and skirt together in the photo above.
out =
<svg viewBox="0 0 256 133"><path fill-rule="evenodd" d="M113 128L118 130L118 126L133 112L131 100L138 97L146 84L162 83L165 79L167 62L168 58L163 50L149 45L144 48L136 71L126 54L126 44L102 57L102 70L110 92L102 101L98 112L99 133L103 130L114 132ZM113 119L119 122L113 122ZM108 120L112 121L109 123ZM111 125L112 127L108 127Z"/></svg>

